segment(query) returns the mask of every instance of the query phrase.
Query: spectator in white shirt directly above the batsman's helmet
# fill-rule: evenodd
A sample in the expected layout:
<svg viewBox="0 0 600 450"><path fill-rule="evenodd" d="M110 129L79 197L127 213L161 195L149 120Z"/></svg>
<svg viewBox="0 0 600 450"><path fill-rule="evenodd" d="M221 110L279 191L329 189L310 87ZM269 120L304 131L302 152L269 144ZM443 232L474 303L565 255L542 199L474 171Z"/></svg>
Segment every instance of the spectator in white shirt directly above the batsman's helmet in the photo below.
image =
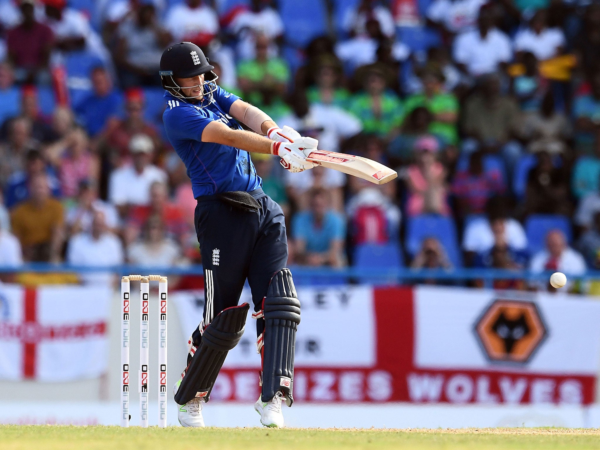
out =
<svg viewBox="0 0 600 450"><path fill-rule="evenodd" d="M187 0L167 11L164 25L175 41L190 41L206 46L219 32L219 19L214 9L202 0Z"/></svg>

